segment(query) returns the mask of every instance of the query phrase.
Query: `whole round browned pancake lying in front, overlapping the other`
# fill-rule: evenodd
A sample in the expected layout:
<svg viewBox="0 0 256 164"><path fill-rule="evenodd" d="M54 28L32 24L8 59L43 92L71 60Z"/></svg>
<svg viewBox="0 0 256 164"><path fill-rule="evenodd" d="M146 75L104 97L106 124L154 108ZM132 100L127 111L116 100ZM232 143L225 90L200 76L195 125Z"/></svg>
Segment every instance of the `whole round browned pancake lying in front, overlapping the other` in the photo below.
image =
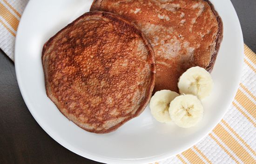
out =
<svg viewBox="0 0 256 164"><path fill-rule="evenodd" d="M85 13L67 25L44 44L42 64L47 96L88 132L111 132L138 116L154 88L151 45L112 13Z"/></svg>

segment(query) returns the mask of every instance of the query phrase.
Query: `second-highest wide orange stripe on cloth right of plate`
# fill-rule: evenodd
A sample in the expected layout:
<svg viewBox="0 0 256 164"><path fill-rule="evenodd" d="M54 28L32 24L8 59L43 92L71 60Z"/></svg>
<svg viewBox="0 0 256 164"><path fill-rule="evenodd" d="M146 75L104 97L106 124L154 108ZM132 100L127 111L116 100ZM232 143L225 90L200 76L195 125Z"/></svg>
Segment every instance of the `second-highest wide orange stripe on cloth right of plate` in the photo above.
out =
<svg viewBox="0 0 256 164"><path fill-rule="evenodd" d="M252 102L240 89L237 90L235 99L250 115L253 116L253 118L256 118L256 104Z"/></svg>

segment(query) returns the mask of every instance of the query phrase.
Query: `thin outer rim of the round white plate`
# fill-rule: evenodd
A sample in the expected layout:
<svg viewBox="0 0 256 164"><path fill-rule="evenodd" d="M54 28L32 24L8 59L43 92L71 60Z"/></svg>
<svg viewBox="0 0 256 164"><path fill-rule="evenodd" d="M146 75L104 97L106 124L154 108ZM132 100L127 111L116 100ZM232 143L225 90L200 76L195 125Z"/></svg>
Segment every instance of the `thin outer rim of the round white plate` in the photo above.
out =
<svg viewBox="0 0 256 164"><path fill-rule="evenodd" d="M56 136L54 136L54 134L52 134L51 132L49 132L49 130L47 129L47 127L45 127L44 125L43 125L43 122L40 122L39 120L38 120L38 118L37 118L37 116L34 114L34 112L33 112L33 110L32 110L32 105L31 105L31 102L29 101L29 99L27 99L27 97L26 97L26 94L25 94L25 90L24 90L24 88L22 88L22 82L21 82L21 79L22 79L22 77L20 76L20 73L19 73L19 62L17 62L18 60L16 60L17 59L17 57L19 56L19 55L17 55L17 54L19 54L19 52L18 52L18 50L17 50L17 46L16 46L16 41L18 40L18 38L19 38L19 36L20 36L20 33L19 33L19 31L20 31L20 25L21 25L21 22L22 22L22 20L23 20L23 15L24 15L24 13L27 13L27 8L30 6L30 4L31 4L31 2L32 1L34 1L34 0L29 0L28 1L28 3L27 3L27 5L26 5L26 7L25 7L25 9L24 9L24 11L23 11L23 13L22 13L22 16L21 16L21 18L20 18L20 23L19 23L19 26L18 26L18 29L17 29L17 33L16 33L16 37L15 37L15 47L14 47L14 62L15 62L15 73L16 73L16 78L17 78L17 82L18 82L18 85L19 85L19 88L20 88L20 93L21 93L21 95L22 95L22 97L23 97L23 100L25 101L25 103L26 103L26 105L27 105L27 108L28 108L28 110L29 110L29 112L32 114L32 116L34 117L34 119L36 120L36 122L40 125L40 127L52 138L52 139L54 139L57 143L59 143L61 146L63 146L63 147L65 147L65 148L67 148L69 151L72 151L72 152L74 152L75 154L77 154L77 155L80 155L81 157L84 157L84 158L88 158L88 159L91 159L91 160L94 160L94 161L98 161L98 162L102 162L102 163L112 163L112 164L119 164L120 162L122 162L122 163L124 163L124 164L126 164L126 163L135 163L135 164L139 164L139 163L150 163L150 162L155 162L155 161L159 161L159 160L164 160L164 159L167 159L167 158L171 158L171 157L173 157L173 156L175 156L175 155L177 155L177 154L179 154L179 153L181 153L181 152L183 152L183 151L186 151L187 149L189 149L191 146L193 146L193 145L196 145L198 142L200 142L203 138L205 138L216 126L217 126L217 124L222 120L222 118L223 118L223 116L227 113L227 111L228 111L228 108L226 108L225 109L225 112L223 112L222 114L220 114L220 116L219 116L219 118L218 119L216 119L214 122L214 125L215 126L211 126L211 127L209 127L208 129L209 129L209 131L208 132L205 132L205 134L204 135L202 135L201 137L199 137L199 139L197 139L197 141L196 142L194 142L194 143L190 143L190 144L187 144L186 146L184 146L184 147L187 147L186 149L182 149L181 151L173 151L172 153L170 153L170 152L166 152L166 153L164 153L164 154L162 154L162 155L158 155L158 156L153 156L153 157L149 157L149 158L139 158L139 159L136 159L136 161L134 160L134 159L123 159L123 158L102 158L102 157L99 157L99 156L95 156L95 155L92 155L92 154L88 154L87 152L83 152L83 151L80 151L80 150L78 150L78 149L75 149L75 147L74 146L72 146L72 145L70 145L67 141L65 141L65 140L63 140L63 139L61 139L61 138L58 138L58 137L56 137ZM236 17L236 21L237 21L237 25L239 25L239 32L237 33L237 35L239 35L239 38L241 38L240 39L240 44L241 44L241 48L242 48L242 50L243 50L243 53L241 54L241 59L243 59L243 57L244 57L244 47L243 47L243 44L244 44L244 42L243 42L243 32L242 32L242 28L241 28L241 24L240 24L240 21L239 21L239 19L238 19L238 16L237 16L237 13L236 13L236 10L235 10L235 8L234 8L234 6L233 6L233 4L232 4L232 2L229 0L229 2L230 2L230 4L231 4L231 6L230 7L232 7L232 10L233 10L233 15ZM238 74L238 76L237 76L237 79L239 79L238 80L238 82L236 82L236 90L234 90L233 91L233 93L230 93L230 95L232 95L232 96L230 96L230 98L229 98L229 106L231 105L231 102L234 100L234 98L235 98L235 95L236 95L236 91L237 91L237 88L239 87L239 82L241 81L241 77L242 77L242 71L243 71L243 60L241 60L240 61L240 67L241 67L241 69L240 69L240 71L237 73ZM170 155L170 154L172 154L172 155Z"/></svg>

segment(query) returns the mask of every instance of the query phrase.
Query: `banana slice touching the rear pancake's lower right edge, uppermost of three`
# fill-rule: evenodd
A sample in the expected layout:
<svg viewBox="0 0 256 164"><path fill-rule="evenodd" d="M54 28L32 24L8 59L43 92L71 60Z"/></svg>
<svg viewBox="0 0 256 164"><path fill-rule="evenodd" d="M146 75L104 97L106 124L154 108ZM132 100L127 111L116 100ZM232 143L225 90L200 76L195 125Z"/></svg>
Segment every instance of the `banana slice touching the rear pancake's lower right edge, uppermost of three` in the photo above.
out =
<svg viewBox="0 0 256 164"><path fill-rule="evenodd" d="M213 80L209 72L201 67L191 67L182 74L178 82L181 94L196 95L200 100L209 96Z"/></svg>

